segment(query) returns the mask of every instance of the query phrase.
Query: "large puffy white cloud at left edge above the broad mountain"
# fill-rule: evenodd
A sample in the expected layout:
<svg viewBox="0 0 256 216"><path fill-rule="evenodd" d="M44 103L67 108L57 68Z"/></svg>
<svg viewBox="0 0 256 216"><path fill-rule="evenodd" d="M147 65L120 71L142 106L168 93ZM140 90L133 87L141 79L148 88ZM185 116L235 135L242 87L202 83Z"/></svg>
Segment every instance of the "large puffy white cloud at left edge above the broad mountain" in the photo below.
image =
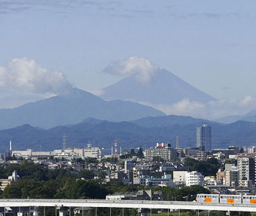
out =
<svg viewBox="0 0 256 216"><path fill-rule="evenodd" d="M39 95L59 94L72 88L59 71L42 68L35 60L14 58L0 67L0 90L29 92Z"/></svg>

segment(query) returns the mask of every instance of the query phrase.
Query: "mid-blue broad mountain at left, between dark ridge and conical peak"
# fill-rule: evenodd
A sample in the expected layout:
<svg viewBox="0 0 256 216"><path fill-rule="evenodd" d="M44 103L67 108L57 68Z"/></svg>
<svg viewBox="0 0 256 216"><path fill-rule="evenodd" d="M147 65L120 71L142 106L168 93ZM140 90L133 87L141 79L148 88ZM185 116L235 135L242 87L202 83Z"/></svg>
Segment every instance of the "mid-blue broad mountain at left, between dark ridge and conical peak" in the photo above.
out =
<svg viewBox="0 0 256 216"><path fill-rule="evenodd" d="M131 121L158 115L165 114L130 101L104 101L90 92L72 89L67 95L58 95L14 109L0 110L0 128L22 124L50 128L78 124L90 117L108 121Z"/></svg>

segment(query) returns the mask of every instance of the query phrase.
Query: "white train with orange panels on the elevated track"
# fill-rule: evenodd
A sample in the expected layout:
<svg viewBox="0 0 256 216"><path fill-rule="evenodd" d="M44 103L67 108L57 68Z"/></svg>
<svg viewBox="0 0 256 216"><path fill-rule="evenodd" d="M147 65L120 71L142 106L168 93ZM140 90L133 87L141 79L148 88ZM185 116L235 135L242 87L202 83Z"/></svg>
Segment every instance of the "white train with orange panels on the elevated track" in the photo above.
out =
<svg viewBox="0 0 256 216"><path fill-rule="evenodd" d="M197 202L230 203L230 204L255 204L255 195L230 195L230 194L197 194Z"/></svg>

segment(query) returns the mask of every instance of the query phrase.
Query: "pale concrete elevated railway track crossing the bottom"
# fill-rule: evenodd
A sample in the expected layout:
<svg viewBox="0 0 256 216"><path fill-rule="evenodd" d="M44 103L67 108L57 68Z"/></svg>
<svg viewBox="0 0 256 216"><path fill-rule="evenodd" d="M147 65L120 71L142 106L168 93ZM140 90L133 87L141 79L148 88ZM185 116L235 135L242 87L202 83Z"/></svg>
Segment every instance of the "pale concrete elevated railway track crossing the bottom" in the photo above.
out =
<svg viewBox="0 0 256 216"><path fill-rule="evenodd" d="M204 203L183 201L105 200L105 199L0 199L0 207L82 207L150 208L207 211L256 211L256 204Z"/></svg>

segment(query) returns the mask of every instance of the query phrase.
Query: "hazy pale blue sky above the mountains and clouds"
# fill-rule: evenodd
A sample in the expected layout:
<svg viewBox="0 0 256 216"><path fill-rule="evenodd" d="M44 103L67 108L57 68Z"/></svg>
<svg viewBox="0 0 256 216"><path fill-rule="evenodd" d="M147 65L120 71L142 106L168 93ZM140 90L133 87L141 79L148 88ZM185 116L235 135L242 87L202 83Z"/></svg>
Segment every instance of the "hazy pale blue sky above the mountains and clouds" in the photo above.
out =
<svg viewBox="0 0 256 216"><path fill-rule="evenodd" d="M215 98L254 98L255 8L253 0L0 0L0 66L26 58L98 92L121 79L103 68L139 56ZM15 106L17 89L2 86L0 108ZM41 97L25 92L19 103Z"/></svg>

